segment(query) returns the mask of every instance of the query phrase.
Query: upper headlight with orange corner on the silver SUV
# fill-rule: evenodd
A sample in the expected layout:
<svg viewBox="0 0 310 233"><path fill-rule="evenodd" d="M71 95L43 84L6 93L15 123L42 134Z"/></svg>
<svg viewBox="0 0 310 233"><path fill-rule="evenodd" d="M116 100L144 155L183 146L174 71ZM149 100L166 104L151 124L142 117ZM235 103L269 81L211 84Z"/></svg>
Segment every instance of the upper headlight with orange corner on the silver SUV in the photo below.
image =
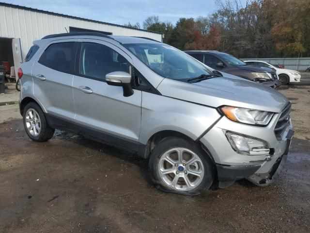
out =
<svg viewBox="0 0 310 233"><path fill-rule="evenodd" d="M268 125L273 116L271 112L231 106L221 107L220 110L233 121L251 125Z"/></svg>

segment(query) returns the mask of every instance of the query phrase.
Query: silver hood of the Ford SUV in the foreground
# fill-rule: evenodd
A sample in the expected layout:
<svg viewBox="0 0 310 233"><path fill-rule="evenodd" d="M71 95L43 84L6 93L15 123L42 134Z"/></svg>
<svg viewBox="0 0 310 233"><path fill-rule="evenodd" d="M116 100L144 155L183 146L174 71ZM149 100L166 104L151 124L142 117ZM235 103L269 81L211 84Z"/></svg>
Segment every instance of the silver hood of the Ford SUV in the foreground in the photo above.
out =
<svg viewBox="0 0 310 233"><path fill-rule="evenodd" d="M289 101L270 87L233 75L198 83L164 79L157 90L163 96L215 108L229 105L279 113Z"/></svg>

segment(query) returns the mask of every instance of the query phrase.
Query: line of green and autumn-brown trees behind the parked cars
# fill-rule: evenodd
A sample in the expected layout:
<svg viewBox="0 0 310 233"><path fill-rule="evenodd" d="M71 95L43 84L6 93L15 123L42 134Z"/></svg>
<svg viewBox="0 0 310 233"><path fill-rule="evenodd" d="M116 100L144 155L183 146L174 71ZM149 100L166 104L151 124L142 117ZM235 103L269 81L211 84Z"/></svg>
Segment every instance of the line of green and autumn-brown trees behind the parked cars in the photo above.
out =
<svg viewBox="0 0 310 233"><path fill-rule="evenodd" d="M240 58L310 56L310 0L218 0L209 15L175 25L150 16L142 28L180 50L219 50ZM125 26L140 28L140 24Z"/></svg>

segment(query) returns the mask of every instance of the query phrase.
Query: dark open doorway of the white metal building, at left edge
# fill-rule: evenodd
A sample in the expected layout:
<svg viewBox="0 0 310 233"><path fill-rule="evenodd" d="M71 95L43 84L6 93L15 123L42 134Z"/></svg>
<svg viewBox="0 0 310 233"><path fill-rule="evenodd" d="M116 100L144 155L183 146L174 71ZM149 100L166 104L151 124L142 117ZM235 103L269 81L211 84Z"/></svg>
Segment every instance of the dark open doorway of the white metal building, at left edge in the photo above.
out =
<svg viewBox="0 0 310 233"><path fill-rule="evenodd" d="M0 66L5 67L5 77L7 81L16 81L17 70L21 62L20 39L0 37Z"/></svg>

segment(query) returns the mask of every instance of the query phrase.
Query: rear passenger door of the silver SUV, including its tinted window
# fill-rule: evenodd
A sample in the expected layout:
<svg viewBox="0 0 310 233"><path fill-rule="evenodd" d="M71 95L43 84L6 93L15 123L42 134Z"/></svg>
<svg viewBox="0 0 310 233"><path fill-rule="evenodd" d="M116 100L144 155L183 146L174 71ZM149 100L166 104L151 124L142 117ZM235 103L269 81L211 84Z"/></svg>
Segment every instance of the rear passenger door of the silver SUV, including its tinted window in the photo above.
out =
<svg viewBox="0 0 310 233"><path fill-rule="evenodd" d="M78 42L58 40L47 44L33 64L33 92L47 114L74 120L72 82Z"/></svg>

